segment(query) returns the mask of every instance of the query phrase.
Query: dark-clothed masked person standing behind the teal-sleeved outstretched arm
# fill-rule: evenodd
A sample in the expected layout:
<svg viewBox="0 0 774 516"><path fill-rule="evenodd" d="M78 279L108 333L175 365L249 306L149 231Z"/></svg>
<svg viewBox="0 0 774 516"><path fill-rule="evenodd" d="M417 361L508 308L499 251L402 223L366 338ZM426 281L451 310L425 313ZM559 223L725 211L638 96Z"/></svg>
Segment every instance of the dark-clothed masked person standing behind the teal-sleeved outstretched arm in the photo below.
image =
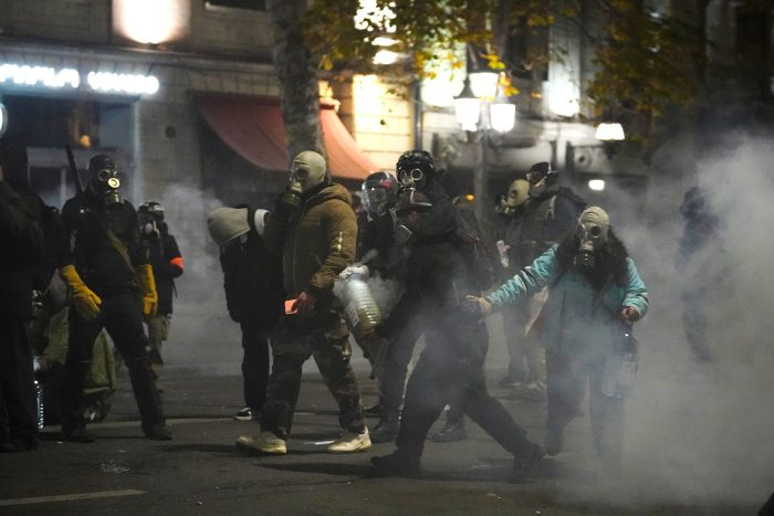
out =
<svg viewBox="0 0 774 516"><path fill-rule="evenodd" d="M541 161L526 172L529 181L527 199L513 209L519 215L517 231L513 232L509 246L509 272L529 265L551 245L562 241L575 227L578 213L586 203L569 188L558 185L558 171L550 162ZM511 204L521 200L523 183L509 192ZM509 210L510 211L510 210ZM512 230L514 228L511 228ZM510 277L510 276L508 276ZM540 310L541 296L535 296L531 305L514 307L506 317L509 368L500 385L511 387L520 396L540 400L545 396L545 365L543 352L527 331L530 320Z"/></svg>

